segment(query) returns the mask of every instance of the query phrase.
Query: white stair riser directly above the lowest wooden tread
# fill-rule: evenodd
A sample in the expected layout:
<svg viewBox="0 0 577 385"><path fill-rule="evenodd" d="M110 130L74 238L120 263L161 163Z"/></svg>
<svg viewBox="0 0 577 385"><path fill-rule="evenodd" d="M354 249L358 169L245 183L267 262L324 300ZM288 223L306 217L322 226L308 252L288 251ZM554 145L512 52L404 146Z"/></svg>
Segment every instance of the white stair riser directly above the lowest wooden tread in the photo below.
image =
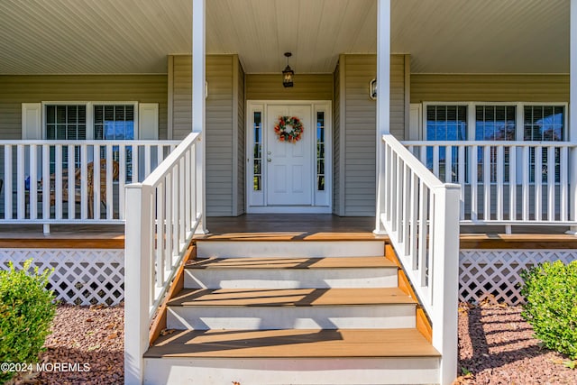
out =
<svg viewBox="0 0 577 385"><path fill-rule="evenodd" d="M169 329L385 329L415 327L415 305L169 307Z"/></svg>

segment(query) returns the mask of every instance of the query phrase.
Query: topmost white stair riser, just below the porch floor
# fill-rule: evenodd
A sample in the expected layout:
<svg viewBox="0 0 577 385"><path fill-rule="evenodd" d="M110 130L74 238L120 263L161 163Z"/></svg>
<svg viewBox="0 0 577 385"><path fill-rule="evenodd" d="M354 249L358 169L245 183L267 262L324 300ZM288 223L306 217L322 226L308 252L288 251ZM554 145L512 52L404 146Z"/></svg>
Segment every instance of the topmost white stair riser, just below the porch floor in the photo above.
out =
<svg viewBox="0 0 577 385"><path fill-rule="evenodd" d="M374 257L383 255L384 241L357 242L230 242L197 243L198 258Z"/></svg>

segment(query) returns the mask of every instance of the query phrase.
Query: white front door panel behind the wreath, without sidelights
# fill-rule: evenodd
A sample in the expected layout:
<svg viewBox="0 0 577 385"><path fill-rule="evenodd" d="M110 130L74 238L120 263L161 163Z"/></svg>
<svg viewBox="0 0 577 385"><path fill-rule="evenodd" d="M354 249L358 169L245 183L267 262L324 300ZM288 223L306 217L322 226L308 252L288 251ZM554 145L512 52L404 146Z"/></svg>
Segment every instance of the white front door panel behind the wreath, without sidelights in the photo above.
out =
<svg viewBox="0 0 577 385"><path fill-rule="evenodd" d="M274 132L280 116L298 117L303 133L298 142L281 142ZM313 133L310 105L269 105L267 108L267 202L275 206L310 206L313 203ZM287 131L292 127L287 126Z"/></svg>

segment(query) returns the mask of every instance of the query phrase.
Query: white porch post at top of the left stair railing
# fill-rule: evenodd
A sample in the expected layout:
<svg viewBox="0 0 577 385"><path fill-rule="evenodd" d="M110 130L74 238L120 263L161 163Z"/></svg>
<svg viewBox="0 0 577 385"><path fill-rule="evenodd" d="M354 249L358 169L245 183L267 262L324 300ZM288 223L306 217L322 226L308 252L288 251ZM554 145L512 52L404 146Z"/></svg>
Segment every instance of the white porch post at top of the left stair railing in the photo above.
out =
<svg viewBox="0 0 577 385"><path fill-rule="evenodd" d="M206 234L206 134L205 134L205 85L206 85L206 0L192 0L192 132L201 133L197 145L197 207L202 215L202 233Z"/></svg>

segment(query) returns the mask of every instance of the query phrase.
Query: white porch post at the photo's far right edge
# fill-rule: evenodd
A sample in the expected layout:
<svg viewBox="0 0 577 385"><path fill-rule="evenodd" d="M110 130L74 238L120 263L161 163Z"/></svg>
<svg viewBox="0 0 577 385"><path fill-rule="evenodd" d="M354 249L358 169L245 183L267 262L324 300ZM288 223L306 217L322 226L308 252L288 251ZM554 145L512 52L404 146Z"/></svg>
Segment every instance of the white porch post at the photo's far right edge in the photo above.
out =
<svg viewBox="0 0 577 385"><path fill-rule="evenodd" d="M577 221L577 0L571 0L571 12L569 18L569 141L573 147L569 162L569 183L571 186L569 201L569 218ZM568 234L577 234L577 225L571 226Z"/></svg>

